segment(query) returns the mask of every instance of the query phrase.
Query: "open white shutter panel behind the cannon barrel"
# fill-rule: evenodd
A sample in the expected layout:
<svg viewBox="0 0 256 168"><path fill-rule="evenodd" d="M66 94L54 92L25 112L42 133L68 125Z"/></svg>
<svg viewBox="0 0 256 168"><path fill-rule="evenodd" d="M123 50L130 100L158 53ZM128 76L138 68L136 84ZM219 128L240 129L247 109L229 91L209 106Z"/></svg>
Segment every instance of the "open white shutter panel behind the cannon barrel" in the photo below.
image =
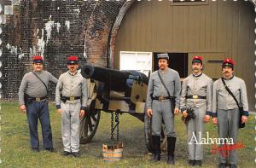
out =
<svg viewBox="0 0 256 168"><path fill-rule="evenodd" d="M120 70L152 72L152 52L120 51Z"/></svg>

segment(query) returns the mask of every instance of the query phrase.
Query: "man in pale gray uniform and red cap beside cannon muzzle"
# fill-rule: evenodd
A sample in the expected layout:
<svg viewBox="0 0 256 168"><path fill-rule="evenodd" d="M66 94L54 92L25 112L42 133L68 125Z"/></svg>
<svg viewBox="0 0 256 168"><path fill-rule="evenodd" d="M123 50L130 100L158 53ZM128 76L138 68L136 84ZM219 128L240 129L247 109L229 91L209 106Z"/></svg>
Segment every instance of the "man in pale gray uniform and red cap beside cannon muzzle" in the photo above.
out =
<svg viewBox="0 0 256 168"><path fill-rule="evenodd" d="M78 67L78 57L69 56L68 71L61 74L55 91L57 112L61 114L62 120L61 135L64 156L73 154L74 157L80 157L79 123L85 113L87 86L85 79L77 71Z"/></svg>

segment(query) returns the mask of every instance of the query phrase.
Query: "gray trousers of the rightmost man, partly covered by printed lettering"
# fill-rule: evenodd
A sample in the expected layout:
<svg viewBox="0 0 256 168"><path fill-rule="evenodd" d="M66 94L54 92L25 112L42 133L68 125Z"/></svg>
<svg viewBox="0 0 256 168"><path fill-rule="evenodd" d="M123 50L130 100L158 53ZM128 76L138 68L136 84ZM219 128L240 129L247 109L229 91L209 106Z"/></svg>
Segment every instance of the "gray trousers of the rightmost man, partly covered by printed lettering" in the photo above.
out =
<svg viewBox="0 0 256 168"><path fill-rule="evenodd" d="M233 142L237 142L238 136L238 119L239 119L239 109L232 110L220 110L218 109L218 137L220 138L232 138ZM229 154L223 154L228 152ZM221 163L236 164L237 155L236 150L230 151L219 151L219 160Z"/></svg>

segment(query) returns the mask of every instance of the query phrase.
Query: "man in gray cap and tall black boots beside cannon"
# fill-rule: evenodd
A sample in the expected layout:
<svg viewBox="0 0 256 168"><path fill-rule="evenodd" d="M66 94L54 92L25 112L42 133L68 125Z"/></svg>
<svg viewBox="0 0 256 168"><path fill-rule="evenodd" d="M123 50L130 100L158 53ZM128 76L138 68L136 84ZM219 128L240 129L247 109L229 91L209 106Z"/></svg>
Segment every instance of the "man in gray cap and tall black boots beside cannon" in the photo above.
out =
<svg viewBox="0 0 256 168"><path fill-rule="evenodd" d="M176 142L174 114L179 113L181 83L178 72L168 67L169 56L160 54L157 58L160 69L150 75L146 102L148 117L152 117L154 161L160 160L160 133L162 120L164 120L167 136L167 163L174 165ZM160 77L166 87L162 84Z"/></svg>

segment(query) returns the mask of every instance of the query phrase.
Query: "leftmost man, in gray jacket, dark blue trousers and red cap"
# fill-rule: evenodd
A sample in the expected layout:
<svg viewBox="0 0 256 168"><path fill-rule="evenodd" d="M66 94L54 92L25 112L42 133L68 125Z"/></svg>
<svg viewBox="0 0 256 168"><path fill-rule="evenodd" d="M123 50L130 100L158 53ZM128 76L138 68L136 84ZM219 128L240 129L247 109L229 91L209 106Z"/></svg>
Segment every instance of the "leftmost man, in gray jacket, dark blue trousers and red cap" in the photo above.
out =
<svg viewBox="0 0 256 168"><path fill-rule="evenodd" d="M43 58L33 56L33 71L22 78L19 90L20 110L26 113L32 151L39 151L38 119L41 123L44 149L54 151L49 122L49 108L46 101L48 83L57 84L58 79L43 70Z"/></svg>

